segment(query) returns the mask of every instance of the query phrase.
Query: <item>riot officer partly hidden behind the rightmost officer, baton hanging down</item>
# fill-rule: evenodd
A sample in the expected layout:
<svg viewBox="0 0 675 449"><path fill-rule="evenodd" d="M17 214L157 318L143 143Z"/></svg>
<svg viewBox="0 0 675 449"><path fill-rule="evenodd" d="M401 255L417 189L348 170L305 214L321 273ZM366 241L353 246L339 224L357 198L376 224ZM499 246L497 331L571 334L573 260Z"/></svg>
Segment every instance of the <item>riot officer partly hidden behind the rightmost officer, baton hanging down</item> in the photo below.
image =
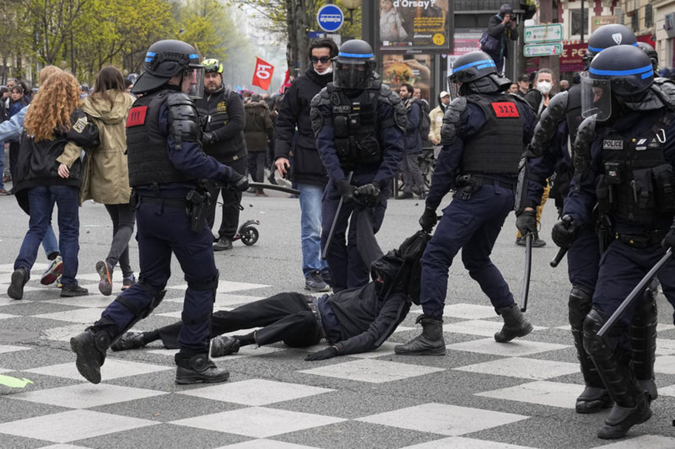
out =
<svg viewBox="0 0 675 449"><path fill-rule="evenodd" d="M625 25L601 26L589 38L588 50L584 56L587 69L593 57L604 49L616 47L619 43L634 46L636 42L635 35ZM575 84L570 90L551 98L549 107L542 113L535 127L535 135L525 154L526 164L522 164L516 200L516 226L523 235L537 232L535 208L539 206L546 179L553 173L556 176L550 194L555 198L558 210L562 212L563 200L568 194L574 173L568 142L574 142L576 138L576 131L583 120L581 113L581 86ZM602 224L601 229L605 229L605 225ZM578 232L578 238L567 252L568 276L572 284L568 299L568 317L585 383L583 392L576 399L575 409L578 413L595 413L612 406L612 398L583 347L583 322L591 311L591 297L597 281L601 248L595 233L595 223L587 223ZM636 349L632 355L635 374L653 398L656 398L656 386L653 382L654 353L642 348L652 348L656 344L656 293L656 286L645 291L645 299L630 327Z"/></svg>

